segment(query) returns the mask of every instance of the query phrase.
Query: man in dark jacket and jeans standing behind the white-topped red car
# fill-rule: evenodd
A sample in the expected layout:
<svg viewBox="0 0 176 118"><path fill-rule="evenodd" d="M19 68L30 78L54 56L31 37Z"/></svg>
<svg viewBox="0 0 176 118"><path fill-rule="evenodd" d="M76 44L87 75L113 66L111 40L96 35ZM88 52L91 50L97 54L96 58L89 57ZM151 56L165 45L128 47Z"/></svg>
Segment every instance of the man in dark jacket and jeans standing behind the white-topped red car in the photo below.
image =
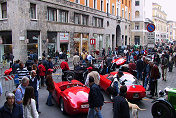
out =
<svg viewBox="0 0 176 118"><path fill-rule="evenodd" d="M141 56L136 63L136 70L137 70L137 79L142 80L142 70L143 70L143 61L141 60Z"/></svg>

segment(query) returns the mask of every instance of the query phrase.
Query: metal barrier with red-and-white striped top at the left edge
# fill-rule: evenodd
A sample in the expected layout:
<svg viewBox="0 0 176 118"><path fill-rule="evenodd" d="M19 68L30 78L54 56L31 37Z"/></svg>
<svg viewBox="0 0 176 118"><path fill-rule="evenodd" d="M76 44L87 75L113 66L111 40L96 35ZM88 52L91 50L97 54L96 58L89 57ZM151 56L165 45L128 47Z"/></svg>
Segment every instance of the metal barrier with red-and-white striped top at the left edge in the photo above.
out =
<svg viewBox="0 0 176 118"><path fill-rule="evenodd" d="M0 82L2 85L3 94L6 95L7 92L13 92L13 90L16 88L14 83L15 75L8 75L8 76L1 76Z"/></svg>

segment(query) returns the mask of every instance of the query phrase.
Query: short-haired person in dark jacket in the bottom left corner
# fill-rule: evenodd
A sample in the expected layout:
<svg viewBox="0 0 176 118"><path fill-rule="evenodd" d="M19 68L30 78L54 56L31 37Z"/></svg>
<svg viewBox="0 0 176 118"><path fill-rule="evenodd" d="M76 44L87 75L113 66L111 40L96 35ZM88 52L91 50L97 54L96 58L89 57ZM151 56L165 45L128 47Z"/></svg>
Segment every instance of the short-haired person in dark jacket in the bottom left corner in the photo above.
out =
<svg viewBox="0 0 176 118"><path fill-rule="evenodd" d="M22 105L15 103L15 95L13 93L6 95L6 102L0 108L0 118L23 118Z"/></svg>

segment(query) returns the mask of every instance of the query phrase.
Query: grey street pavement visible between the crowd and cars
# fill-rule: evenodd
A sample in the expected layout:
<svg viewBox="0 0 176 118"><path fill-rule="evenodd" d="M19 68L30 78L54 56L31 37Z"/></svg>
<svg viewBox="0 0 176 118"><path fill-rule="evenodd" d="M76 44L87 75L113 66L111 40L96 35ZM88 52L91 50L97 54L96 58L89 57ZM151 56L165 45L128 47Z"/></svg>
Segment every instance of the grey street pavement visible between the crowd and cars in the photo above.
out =
<svg viewBox="0 0 176 118"><path fill-rule="evenodd" d="M69 66L71 69L73 69L73 66L71 63L69 63ZM4 71L4 70L3 70ZM168 72L167 73L167 81L162 81L162 79L158 80L158 91L163 90L165 87L173 87L176 88L176 68L173 68L173 72ZM53 74L53 79L56 82L61 81L61 70L58 69L56 73ZM149 92L147 92L149 93ZM104 98L106 101L110 101L109 97L103 92ZM46 90L46 87L43 87L39 89L39 109L41 111L40 118L86 118L86 114L80 114L80 115L75 115L75 116L70 116L70 115L65 115L62 114L61 111L59 110L58 105L53 101L54 106L47 106L46 100L48 97L48 91ZM149 98L144 98L143 100L136 102L138 106L142 109L146 109L146 111L139 111L139 118L152 118L151 114L151 107L152 107L152 102L153 99ZM0 107L3 106L5 102L5 96L4 94L0 97ZM130 111L131 114L131 111ZM112 118L113 113L112 113L112 103L106 103L104 104L102 108L102 115L103 118ZM131 118L132 115L131 115Z"/></svg>

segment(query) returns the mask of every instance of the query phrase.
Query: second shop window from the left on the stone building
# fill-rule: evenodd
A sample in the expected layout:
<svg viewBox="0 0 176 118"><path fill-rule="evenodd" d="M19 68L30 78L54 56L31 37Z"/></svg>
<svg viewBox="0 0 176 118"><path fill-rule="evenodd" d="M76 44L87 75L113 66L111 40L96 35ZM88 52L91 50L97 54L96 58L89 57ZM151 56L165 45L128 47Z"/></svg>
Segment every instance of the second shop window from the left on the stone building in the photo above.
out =
<svg viewBox="0 0 176 118"><path fill-rule="evenodd" d="M28 56L33 55L33 59L38 59L40 55L40 31L27 31L27 52Z"/></svg>

